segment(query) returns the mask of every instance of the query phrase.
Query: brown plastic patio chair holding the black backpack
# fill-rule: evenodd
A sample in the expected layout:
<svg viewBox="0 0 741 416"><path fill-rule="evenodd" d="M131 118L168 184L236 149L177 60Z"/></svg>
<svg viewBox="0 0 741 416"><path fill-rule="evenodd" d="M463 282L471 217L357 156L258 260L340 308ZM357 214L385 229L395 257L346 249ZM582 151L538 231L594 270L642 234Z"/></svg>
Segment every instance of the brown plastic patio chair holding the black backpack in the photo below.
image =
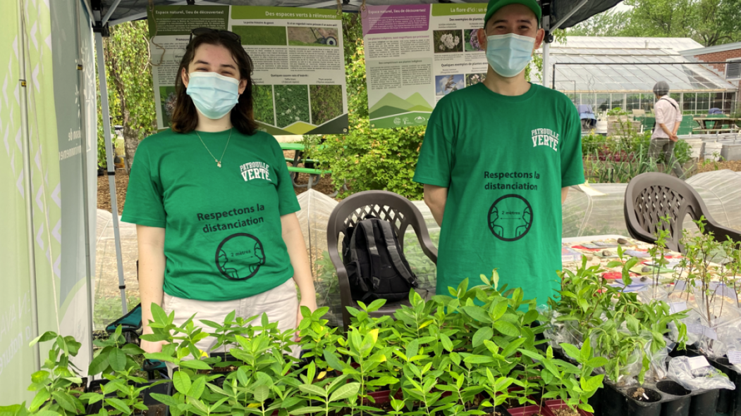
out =
<svg viewBox="0 0 741 416"><path fill-rule="evenodd" d="M356 301L350 296L350 281L345 265L342 264L337 243L341 241L339 235L344 235L345 229L355 227L360 221L364 220L366 215L372 215L375 218L385 220L391 223L393 231L399 238L399 244L404 249L404 235L409 226L414 229L422 252L425 252L428 258L437 264L437 249L433 246L430 235L422 217L422 212L414 206L407 198L402 195L388 191L365 191L359 192L340 202L332 211L327 225L327 245L329 257L337 269L337 278L339 279L339 294L342 302L342 323L345 331L350 325L350 312L348 306L359 308ZM419 289L418 289L419 290ZM422 289L420 295L423 298L431 298L433 292L425 292ZM402 304L409 305L409 301L387 302L381 309L371 312L371 316L379 318L382 316L393 316L393 312Z"/></svg>

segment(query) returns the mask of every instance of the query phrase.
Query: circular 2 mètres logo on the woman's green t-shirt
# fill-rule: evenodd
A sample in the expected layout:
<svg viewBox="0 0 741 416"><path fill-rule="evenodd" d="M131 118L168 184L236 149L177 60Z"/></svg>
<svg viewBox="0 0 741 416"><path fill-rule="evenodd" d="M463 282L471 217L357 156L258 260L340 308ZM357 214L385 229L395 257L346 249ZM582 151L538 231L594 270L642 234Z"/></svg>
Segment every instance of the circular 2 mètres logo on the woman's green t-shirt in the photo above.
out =
<svg viewBox="0 0 741 416"><path fill-rule="evenodd" d="M216 249L216 266L222 275L243 281L256 275L265 264L262 243L254 235L240 232L225 238Z"/></svg>

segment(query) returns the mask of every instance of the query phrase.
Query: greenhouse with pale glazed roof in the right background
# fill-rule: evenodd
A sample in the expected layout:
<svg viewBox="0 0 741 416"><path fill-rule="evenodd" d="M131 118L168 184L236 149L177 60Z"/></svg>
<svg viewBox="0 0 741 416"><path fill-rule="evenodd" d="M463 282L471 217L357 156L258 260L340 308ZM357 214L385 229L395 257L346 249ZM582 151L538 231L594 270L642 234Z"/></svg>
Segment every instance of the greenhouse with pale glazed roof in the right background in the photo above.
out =
<svg viewBox="0 0 741 416"><path fill-rule="evenodd" d="M551 81L574 104L591 105L595 112L620 107L648 113L656 101L651 90L664 80L685 113L734 113L737 86L680 53L699 47L690 38L569 37L551 47Z"/></svg>

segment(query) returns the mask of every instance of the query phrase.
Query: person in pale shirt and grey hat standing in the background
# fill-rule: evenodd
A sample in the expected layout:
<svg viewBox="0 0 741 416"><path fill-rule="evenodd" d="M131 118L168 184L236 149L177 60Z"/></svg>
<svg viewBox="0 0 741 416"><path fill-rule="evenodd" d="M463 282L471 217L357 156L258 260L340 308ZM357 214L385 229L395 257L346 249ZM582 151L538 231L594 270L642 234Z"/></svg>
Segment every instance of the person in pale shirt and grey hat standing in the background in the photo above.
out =
<svg viewBox="0 0 741 416"><path fill-rule="evenodd" d="M656 125L654 134L651 135L651 146L648 147L648 157L654 160L664 153L666 164L671 166L674 175L682 178L685 172L679 166L677 158L674 158L674 144L679 140L677 130L682 123L682 109L674 98L669 97L669 84L666 81L659 81L654 85L654 95L656 95L656 104L654 104L654 113L656 114Z"/></svg>

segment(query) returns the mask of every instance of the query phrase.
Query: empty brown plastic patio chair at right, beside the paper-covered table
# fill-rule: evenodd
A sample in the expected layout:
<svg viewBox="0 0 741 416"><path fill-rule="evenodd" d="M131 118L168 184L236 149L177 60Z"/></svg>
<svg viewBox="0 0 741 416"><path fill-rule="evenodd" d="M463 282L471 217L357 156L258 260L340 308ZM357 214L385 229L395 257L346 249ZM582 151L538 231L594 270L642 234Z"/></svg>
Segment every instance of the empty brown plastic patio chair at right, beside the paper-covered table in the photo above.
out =
<svg viewBox="0 0 741 416"><path fill-rule="evenodd" d="M740 232L723 227L715 221L700 195L685 181L665 173L647 172L628 183L625 189L625 224L631 237L655 244L654 233L662 222L661 218L667 214L671 239L666 246L675 252L685 252L679 241L686 215L690 215L695 221L705 216L705 232L712 232L717 241L731 238L741 242ZM665 229L665 223L661 227Z"/></svg>

